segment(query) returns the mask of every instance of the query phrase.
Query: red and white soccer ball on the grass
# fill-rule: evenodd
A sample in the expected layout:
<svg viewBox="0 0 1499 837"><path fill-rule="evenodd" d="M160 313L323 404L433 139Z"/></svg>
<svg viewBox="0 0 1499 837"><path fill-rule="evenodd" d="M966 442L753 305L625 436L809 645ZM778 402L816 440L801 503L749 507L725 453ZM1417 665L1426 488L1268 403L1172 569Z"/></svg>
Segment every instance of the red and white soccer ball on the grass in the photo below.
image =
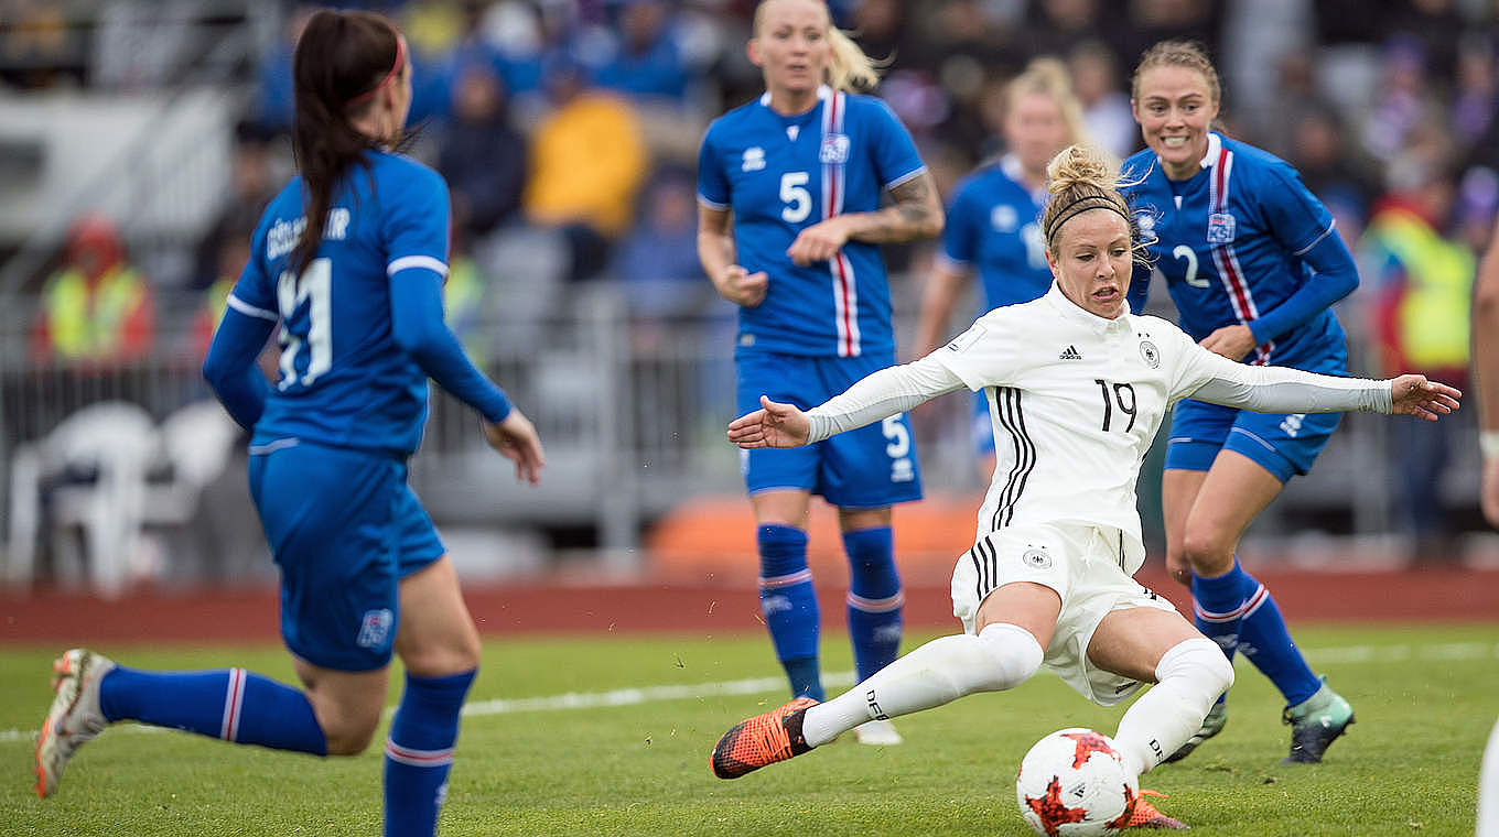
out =
<svg viewBox="0 0 1499 837"><path fill-rule="evenodd" d="M1139 779L1114 740L1069 728L1036 741L1021 759L1015 798L1025 822L1045 837L1120 834L1135 813Z"/></svg>

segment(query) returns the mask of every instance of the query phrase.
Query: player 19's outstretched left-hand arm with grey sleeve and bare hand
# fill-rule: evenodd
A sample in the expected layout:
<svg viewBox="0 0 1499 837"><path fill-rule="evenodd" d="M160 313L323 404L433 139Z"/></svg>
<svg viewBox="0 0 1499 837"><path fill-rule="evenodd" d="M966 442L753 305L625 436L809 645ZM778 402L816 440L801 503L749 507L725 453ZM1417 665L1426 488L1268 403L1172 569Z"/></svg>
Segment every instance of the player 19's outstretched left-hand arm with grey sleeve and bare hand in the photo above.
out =
<svg viewBox="0 0 1499 837"><path fill-rule="evenodd" d="M904 413L964 383L932 356L871 373L841 395L802 412L760 397L760 409L729 424L729 440L741 448L796 448L835 433Z"/></svg>

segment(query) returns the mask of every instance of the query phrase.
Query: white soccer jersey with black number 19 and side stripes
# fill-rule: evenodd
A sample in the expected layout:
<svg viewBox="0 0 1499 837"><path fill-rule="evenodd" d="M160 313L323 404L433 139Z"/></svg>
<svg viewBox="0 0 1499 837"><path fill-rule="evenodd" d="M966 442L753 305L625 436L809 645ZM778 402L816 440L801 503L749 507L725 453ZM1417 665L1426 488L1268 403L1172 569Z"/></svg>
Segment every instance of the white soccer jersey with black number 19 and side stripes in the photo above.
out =
<svg viewBox="0 0 1499 837"><path fill-rule="evenodd" d="M997 461L979 536L1022 521L1106 526L1132 541L1121 550L1133 573L1145 560L1139 463L1166 409L1201 383L1190 374L1201 350L1192 349L1159 317L1097 317L1052 284L1040 299L979 317L935 352L989 398Z"/></svg>

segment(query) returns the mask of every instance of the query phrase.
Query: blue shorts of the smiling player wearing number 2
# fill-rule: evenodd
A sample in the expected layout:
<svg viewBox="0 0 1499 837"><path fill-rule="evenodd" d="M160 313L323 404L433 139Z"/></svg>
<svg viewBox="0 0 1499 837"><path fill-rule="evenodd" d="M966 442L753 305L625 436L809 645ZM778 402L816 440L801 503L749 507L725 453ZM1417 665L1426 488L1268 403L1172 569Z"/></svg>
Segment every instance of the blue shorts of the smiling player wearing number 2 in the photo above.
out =
<svg viewBox="0 0 1499 837"><path fill-rule="evenodd" d="M1219 451L1234 451L1282 482L1312 470L1343 413L1253 413L1205 401L1177 403L1166 469L1208 470Z"/></svg>

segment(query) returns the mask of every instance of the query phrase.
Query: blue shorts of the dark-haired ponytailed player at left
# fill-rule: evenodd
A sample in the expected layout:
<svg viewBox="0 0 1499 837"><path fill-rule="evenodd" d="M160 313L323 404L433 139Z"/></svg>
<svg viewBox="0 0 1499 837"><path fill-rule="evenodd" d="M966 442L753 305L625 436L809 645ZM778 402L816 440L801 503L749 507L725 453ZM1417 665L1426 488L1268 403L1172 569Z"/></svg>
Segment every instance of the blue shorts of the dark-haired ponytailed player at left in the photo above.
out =
<svg viewBox="0 0 1499 837"><path fill-rule="evenodd" d="M405 461L283 440L252 448L249 476L280 567L286 647L337 671L388 665L400 579L445 553Z"/></svg>

